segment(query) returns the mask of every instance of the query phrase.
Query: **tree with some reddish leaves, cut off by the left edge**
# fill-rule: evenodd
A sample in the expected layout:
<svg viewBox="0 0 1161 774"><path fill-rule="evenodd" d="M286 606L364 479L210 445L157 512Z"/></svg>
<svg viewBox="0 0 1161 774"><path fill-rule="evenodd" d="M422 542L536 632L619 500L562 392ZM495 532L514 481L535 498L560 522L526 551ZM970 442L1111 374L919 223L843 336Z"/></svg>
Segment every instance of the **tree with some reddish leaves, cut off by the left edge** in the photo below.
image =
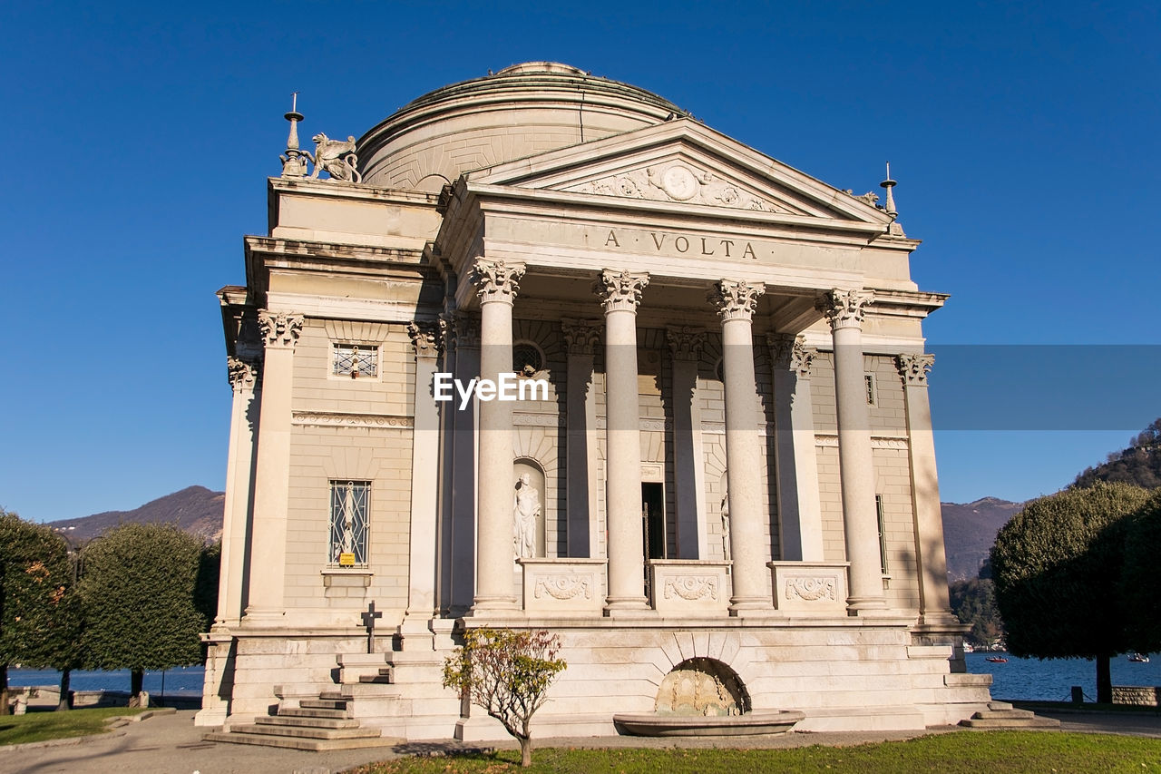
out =
<svg viewBox="0 0 1161 774"><path fill-rule="evenodd" d="M75 648L73 579L63 537L0 509L0 715L8 714L8 665L57 667Z"/></svg>

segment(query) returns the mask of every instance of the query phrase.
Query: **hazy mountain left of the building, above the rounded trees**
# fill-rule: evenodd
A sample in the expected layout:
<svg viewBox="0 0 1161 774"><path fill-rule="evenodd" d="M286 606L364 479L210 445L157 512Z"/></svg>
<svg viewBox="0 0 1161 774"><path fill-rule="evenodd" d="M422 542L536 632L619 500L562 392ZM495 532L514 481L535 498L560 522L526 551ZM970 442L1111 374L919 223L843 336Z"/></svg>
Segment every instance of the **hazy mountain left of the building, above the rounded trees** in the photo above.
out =
<svg viewBox="0 0 1161 774"><path fill-rule="evenodd" d="M176 524L207 543L222 539L222 510L224 492L211 492L205 487L186 487L180 492L158 497L134 510L107 510L80 518L52 522L52 528L63 532L75 545L92 540L118 524Z"/></svg>

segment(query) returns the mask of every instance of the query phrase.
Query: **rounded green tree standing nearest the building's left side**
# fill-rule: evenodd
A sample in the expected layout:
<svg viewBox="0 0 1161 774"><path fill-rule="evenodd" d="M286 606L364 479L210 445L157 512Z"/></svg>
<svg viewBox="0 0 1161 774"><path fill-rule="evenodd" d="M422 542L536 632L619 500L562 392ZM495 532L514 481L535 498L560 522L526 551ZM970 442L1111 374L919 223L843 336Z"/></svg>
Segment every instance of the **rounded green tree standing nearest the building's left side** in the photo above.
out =
<svg viewBox="0 0 1161 774"><path fill-rule="evenodd" d="M196 604L202 543L176 526L124 524L81 552L87 622L85 646L94 668L130 669L139 701L146 669L202 661Z"/></svg>

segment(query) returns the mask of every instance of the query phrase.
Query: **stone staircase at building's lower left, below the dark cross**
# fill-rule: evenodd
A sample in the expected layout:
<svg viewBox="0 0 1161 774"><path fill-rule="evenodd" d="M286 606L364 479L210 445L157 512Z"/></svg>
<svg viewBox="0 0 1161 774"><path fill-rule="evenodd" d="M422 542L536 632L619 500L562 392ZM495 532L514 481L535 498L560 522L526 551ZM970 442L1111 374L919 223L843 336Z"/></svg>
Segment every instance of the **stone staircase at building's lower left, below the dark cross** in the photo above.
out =
<svg viewBox="0 0 1161 774"><path fill-rule="evenodd" d="M459 716L459 700L442 688L442 658L433 651L347 653L337 662L334 688L276 686L276 714L253 723L231 719L228 729L203 738L322 751L452 737L454 719L448 718Z"/></svg>

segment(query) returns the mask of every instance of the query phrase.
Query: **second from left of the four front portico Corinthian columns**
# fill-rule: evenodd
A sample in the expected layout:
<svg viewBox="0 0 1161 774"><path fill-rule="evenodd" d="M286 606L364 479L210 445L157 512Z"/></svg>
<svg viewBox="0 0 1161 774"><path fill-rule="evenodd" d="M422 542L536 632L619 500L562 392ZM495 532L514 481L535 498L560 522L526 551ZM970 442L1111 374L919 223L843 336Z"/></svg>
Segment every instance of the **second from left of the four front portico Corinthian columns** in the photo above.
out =
<svg viewBox="0 0 1161 774"><path fill-rule="evenodd" d="M641 418L637 402L637 306L647 285L648 274L606 268L593 287L605 307L606 615L648 607L641 535Z"/></svg>

